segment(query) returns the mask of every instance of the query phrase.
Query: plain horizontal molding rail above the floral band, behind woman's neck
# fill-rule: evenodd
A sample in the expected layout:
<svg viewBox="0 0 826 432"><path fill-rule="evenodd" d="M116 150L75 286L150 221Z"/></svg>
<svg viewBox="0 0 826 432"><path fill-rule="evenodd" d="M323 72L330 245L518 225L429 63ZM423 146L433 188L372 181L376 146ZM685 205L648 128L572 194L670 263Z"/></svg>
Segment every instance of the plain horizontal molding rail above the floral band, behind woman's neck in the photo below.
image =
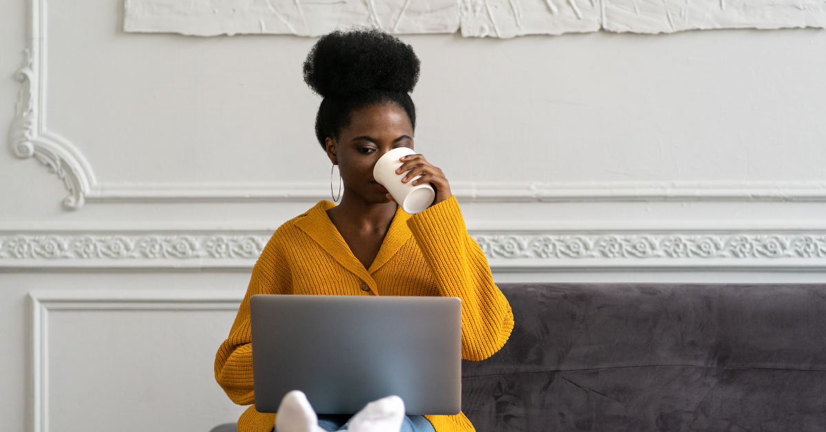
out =
<svg viewBox="0 0 826 432"><path fill-rule="evenodd" d="M826 202L824 182L453 182L463 202ZM88 202L235 202L330 199L330 183L94 185Z"/></svg>

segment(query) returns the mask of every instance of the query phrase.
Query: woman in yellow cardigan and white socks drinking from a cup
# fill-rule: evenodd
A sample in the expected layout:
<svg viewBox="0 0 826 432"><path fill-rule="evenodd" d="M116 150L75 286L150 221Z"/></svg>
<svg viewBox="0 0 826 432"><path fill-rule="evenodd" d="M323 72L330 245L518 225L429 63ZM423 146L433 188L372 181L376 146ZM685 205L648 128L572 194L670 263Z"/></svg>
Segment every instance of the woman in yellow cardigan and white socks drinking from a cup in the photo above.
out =
<svg viewBox="0 0 826 432"><path fill-rule="evenodd" d="M411 46L381 31L335 31L307 56L304 80L324 97L316 137L338 165L344 192L338 206L321 201L281 225L255 263L230 336L216 354L216 380L235 403L254 402L249 330L254 294L459 297L462 357L469 360L496 353L510 336L510 305L494 285L482 249L468 235L442 170L421 154L400 159L397 173L410 170L403 182L430 183L436 192L433 204L415 216L396 206L373 178L382 154L413 148L415 106L408 93L418 78L419 59ZM411 180L416 176L421 177ZM288 395L278 411L278 432L316 429L306 398ZM368 404L351 419L349 430L396 432L402 421L403 430L473 430L462 413L382 424L382 415L398 417L400 402ZM238 420L239 430L269 432L274 417L250 406ZM341 423L332 417L318 420L325 430L348 427Z"/></svg>

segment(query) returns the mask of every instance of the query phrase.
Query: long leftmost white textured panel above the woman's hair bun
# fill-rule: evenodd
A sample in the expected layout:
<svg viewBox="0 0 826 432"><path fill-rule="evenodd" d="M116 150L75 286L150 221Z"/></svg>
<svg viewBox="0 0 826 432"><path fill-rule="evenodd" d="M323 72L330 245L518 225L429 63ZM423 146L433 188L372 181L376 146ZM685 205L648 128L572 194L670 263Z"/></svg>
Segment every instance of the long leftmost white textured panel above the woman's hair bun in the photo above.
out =
<svg viewBox="0 0 826 432"><path fill-rule="evenodd" d="M396 33L454 33L455 0L126 0L126 31L215 36L269 33L320 36L337 27Z"/></svg>

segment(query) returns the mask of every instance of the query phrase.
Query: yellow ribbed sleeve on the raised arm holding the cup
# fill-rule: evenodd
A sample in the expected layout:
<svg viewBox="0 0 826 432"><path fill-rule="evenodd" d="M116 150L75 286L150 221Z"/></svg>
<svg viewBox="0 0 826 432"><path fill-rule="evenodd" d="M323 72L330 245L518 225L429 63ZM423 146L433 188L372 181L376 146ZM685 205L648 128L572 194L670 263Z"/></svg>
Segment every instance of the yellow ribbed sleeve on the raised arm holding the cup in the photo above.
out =
<svg viewBox="0 0 826 432"><path fill-rule="evenodd" d="M513 313L493 283L482 248L468 235L456 197L412 216L407 225L439 292L462 299L462 358L490 357L510 336Z"/></svg>

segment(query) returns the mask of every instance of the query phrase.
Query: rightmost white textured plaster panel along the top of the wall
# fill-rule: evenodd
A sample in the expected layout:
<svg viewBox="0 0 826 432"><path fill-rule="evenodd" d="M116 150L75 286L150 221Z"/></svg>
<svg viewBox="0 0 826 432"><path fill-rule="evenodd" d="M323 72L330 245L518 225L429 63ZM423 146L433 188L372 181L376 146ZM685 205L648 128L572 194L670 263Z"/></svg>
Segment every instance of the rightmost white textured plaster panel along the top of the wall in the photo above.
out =
<svg viewBox="0 0 826 432"><path fill-rule="evenodd" d="M609 31L672 33L826 26L823 0L603 0Z"/></svg>

